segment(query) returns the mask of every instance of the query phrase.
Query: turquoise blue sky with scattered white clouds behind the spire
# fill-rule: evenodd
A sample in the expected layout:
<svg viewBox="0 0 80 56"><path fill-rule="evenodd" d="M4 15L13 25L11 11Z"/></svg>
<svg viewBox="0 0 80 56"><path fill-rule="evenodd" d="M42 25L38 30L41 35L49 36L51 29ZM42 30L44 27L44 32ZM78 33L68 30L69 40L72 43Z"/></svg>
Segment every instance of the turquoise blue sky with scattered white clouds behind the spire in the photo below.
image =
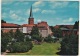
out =
<svg viewBox="0 0 80 56"><path fill-rule="evenodd" d="M77 1L25 1L2 0L1 19L8 23L28 24L30 7L34 23L46 21L48 25L73 25L79 20Z"/></svg>

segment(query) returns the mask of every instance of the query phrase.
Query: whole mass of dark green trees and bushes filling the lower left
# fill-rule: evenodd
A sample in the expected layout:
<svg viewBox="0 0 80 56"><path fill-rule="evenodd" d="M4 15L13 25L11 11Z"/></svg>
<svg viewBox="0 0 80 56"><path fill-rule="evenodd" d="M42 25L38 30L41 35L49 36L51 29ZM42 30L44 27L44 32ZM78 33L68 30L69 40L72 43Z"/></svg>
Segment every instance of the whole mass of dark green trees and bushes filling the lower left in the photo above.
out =
<svg viewBox="0 0 80 56"><path fill-rule="evenodd" d="M30 42L29 38L26 38L26 41L24 42L24 37L24 34L18 29L15 33L13 33L13 30L9 31L8 33L3 33L3 31L1 31L1 51L3 52L7 49L11 52L29 51L30 49L32 49L33 44L32 42ZM12 38L16 39L17 41L12 41Z"/></svg>

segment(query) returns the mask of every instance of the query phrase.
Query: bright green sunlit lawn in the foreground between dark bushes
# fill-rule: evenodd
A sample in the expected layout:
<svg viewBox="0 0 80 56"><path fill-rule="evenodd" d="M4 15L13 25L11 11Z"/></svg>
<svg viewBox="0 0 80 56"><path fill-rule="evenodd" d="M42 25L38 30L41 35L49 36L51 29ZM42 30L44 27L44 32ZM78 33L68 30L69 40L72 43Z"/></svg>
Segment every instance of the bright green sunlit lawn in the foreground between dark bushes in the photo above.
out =
<svg viewBox="0 0 80 56"><path fill-rule="evenodd" d="M25 53L8 53L9 55L57 55L60 43L42 43L41 45L34 45L32 50Z"/></svg>

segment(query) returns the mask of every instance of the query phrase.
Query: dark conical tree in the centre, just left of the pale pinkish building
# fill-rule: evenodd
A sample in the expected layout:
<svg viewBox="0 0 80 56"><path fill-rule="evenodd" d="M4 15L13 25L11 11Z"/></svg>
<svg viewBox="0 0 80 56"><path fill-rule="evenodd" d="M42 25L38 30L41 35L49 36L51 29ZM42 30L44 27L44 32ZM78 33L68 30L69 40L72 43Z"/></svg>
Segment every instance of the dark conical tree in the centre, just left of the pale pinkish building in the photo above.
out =
<svg viewBox="0 0 80 56"><path fill-rule="evenodd" d="M42 38L39 33L39 29L37 26L33 26L32 31L31 31L31 37L33 40L37 40L38 42L41 42Z"/></svg>

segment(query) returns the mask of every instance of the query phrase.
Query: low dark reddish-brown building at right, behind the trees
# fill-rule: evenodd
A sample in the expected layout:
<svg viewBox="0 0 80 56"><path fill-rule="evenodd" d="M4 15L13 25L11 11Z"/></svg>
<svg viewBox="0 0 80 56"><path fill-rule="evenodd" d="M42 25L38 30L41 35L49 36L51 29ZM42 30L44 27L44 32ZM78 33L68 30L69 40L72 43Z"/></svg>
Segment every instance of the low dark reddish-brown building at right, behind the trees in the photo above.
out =
<svg viewBox="0 0 80 56"><path fill-rule="evenodd" d="M76 35L79 34L78 29L73 29L74 25L56 25L54 26L55 29L60 28L62 30L62 35L65 36L70 35L72 32Z"/></svg>

